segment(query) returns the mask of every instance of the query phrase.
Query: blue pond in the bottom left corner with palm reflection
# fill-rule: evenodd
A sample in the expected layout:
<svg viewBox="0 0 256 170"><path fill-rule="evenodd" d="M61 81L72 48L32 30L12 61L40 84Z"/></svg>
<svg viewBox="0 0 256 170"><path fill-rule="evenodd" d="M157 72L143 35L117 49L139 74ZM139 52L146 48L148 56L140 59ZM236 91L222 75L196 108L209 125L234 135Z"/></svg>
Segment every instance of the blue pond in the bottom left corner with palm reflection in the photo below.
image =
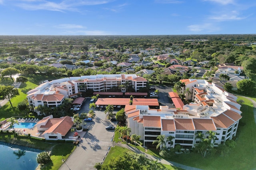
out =
<svg viewBox="0 0 256 170"><path fill-rule="evenodd" d="M7 145L0 145L0 150L0 167L5 170L35 170L38 166L36 156L39 152L29 151L26 148L12 148Z"/></svg>

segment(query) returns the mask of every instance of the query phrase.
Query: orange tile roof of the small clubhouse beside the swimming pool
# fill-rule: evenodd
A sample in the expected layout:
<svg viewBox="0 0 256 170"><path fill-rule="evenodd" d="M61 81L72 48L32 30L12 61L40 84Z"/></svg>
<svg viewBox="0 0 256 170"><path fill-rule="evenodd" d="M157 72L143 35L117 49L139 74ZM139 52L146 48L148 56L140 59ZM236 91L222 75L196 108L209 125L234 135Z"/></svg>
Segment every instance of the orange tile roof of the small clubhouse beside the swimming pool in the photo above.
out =
<svg viewBox="0 0 256 170"><path fill-rule="evenodd" d="M49 119L45 126L41 126L49 128L44 131L42 135L46 133L60 133L62 136L65 136L70 131L70 128L73 126L73 124L74 123L69 116Z"/></svg>

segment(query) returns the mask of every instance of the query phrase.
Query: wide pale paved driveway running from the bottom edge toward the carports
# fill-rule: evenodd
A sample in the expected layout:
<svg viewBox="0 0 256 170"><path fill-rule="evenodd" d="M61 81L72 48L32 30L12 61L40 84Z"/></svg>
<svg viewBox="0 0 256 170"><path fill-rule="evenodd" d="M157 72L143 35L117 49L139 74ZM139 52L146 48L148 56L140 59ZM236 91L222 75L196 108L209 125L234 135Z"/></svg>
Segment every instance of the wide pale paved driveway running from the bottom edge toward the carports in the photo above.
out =
<svg viewBox="0 0 256 170"><path fill-rule="evenodd" d="M90 99L87 99L79 113L88 113ZM86 108L87 107L87 108ZM80 144L69 156L69 158L62 164L60 170L92 170L93 166L98 162L103 162L113 146L114 131L107 131L106 126L112 124L104 113L104 109L94 109L95 117L92 122L87 122L84 128L89 131L82 137ZM115 113L116 111L114 111Z"/></svg>

